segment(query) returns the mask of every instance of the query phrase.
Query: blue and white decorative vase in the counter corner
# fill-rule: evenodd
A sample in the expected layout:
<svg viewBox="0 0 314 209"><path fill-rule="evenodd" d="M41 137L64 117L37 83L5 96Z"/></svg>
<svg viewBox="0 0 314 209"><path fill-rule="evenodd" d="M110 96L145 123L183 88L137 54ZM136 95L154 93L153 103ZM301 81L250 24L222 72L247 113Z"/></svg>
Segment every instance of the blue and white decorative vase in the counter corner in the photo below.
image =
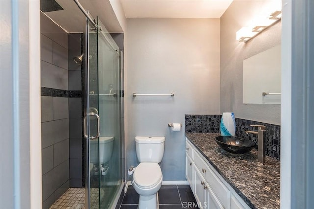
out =
<svg viewBox="0 0 314 209"><path fill-rule="evenodd" d="M235 115L233 112L222 113L220 133L222 136L235 136Z"/></svg>

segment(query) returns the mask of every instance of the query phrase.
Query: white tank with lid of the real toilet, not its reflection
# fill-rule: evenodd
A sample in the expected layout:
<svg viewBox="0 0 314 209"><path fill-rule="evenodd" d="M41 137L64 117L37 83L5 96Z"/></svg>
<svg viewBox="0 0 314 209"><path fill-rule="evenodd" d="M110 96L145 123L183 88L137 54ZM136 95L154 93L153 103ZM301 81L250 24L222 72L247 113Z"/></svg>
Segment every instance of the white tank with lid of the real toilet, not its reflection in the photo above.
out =
<svg viewBox="0 0 314 209"><path fill-rule="evenodd" d="M164 136L136 136L135 145L139 162L161 162L165 148Z"/></svg>

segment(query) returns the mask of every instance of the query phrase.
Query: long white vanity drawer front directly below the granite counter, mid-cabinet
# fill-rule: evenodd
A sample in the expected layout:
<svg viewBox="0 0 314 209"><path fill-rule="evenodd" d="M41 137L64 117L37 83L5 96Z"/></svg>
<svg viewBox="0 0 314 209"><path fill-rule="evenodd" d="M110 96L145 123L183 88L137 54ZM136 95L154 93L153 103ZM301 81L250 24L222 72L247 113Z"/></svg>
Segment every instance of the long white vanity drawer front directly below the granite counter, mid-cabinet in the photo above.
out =
<svg viewBox="0 0 314 209"><path fill-rule="evenodd" d="M220 200L223 207L227 208L229 198L228 188L223 182L221 182L221 180L217 177L216 174L213 173L203 158L196 152L194 153L194 163L199 169L200 173L203 175L206 182L209 184L209 187L213 193Z"/></svg>

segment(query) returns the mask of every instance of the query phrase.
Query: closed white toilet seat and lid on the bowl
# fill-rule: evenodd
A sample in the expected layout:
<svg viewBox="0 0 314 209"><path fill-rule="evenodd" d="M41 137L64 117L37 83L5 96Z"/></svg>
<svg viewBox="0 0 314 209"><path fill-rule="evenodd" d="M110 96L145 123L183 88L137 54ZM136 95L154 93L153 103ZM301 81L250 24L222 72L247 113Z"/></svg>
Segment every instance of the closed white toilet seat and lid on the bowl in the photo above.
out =
<svg viewBox="0 0 314 209"><path fill-rule="evenodd" d="M162 172L158 163L142 162L133 174L133 181L143 189L149 189L156 186L162 180Z"/></svg>

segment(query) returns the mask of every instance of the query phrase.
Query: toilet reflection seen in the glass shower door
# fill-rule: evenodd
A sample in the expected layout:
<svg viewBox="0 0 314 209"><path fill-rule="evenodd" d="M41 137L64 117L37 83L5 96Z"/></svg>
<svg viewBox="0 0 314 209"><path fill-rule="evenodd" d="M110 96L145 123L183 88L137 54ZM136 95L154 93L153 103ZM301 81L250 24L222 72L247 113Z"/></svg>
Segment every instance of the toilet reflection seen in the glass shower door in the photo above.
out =
<svg viewBox="0 0 314 209"><path fill-rule="evenodd" d="M107 162L110 160L112 151L113 151L113 142L114 137L99 137L99 156L98 156L98 140L91 140L90 141L90 173L91 176L95 174L94 165L99 164L99 166L103 165L104 167L101 168L101 174L106 175L108 172L108 165ZM99 160L98 160L99 157ZM98 167L98 166L97 166ZM97 171L96 171L97 172Z"/></svg>

